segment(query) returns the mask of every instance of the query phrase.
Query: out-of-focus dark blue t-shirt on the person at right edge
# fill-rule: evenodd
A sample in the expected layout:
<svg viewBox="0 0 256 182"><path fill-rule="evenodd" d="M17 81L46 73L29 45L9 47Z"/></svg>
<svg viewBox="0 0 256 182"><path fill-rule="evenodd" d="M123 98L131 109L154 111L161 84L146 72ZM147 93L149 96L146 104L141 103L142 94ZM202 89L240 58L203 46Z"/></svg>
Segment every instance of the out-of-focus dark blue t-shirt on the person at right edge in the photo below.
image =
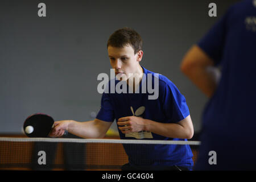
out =
<svg viewBox="0 0 256 182"><path fill-rule="evenodd" d="M222 75L205 106L195 169L256 169L256 1L231 6L198 46Z"/></svg>

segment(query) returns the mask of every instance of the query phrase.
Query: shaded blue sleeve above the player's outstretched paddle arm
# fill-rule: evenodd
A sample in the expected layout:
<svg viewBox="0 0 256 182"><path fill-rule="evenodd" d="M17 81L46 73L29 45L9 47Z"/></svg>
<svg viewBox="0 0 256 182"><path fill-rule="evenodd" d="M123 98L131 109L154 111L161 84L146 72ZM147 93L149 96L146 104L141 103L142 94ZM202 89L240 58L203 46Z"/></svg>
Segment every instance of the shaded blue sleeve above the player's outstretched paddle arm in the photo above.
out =
<svg viewBox="0 0 256 182"><path fill-rule="evenodd" d="M103 93L101 97L101 109L97 114L97 119L106 122L114 121L114 109L110 102L110 96L108 93Z"/></svg>

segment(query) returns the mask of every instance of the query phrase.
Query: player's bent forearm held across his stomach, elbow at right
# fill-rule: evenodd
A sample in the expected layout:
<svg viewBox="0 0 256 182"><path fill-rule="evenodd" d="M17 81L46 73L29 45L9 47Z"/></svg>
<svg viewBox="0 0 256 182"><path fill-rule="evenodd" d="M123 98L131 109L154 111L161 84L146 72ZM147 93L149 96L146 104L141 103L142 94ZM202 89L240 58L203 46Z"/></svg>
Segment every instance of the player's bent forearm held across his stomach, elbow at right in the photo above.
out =
<svg viewBox="0 0 256 182"><path fill-rule="evenodd" d="M150 119L145 119L144 123L147 131L164 137L182 139L191 139L193 137L193 131L177 123L160 123Z"/></svg>

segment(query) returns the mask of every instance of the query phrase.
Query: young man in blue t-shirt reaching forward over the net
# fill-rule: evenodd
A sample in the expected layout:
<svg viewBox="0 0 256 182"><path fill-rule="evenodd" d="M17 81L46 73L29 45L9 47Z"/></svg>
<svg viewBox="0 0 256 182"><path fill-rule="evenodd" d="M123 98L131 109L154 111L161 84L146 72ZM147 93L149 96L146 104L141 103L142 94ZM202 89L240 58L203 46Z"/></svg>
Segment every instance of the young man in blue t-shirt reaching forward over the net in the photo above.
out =
<svg viewBox="0 0 256 182"><path fill-rule="evenodd" d="M142 60L141 36L130 28L115 31L108 40L110 64L119 78L109 81L102 94L101 109L94 121L58 121L51 132L60 137L64 130L82 138L103 138L114 119L121 139L187 140L193 125L185 98L167 77L148 71ZM111 92L120 83L127 92ZM145 87L146 85L146 87ZM156 98L147 86L158 90ZM125 89L125 86L127 88ZM158 87L158 88L157 88ZM151 99L150 99L151 98ZM129 164L125 169L192 169L188 145L123 144Z"/></svg>

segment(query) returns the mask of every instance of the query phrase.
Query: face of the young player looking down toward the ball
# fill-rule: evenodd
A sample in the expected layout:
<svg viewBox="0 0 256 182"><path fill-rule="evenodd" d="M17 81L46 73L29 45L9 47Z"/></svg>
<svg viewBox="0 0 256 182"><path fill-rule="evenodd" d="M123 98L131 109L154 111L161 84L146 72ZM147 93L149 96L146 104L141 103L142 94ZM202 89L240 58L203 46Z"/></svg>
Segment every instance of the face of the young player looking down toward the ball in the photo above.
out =
<svg viewBox="0 0 256 182"><path fill-rule="evenodd" d="M130 45L123 48L109 46L110 64L115 69L115 75L118 74L118 76L129 78L129 73L137 73L139 61L141 61L141 52L139 51L134 55L134 49Z"/></svg>

